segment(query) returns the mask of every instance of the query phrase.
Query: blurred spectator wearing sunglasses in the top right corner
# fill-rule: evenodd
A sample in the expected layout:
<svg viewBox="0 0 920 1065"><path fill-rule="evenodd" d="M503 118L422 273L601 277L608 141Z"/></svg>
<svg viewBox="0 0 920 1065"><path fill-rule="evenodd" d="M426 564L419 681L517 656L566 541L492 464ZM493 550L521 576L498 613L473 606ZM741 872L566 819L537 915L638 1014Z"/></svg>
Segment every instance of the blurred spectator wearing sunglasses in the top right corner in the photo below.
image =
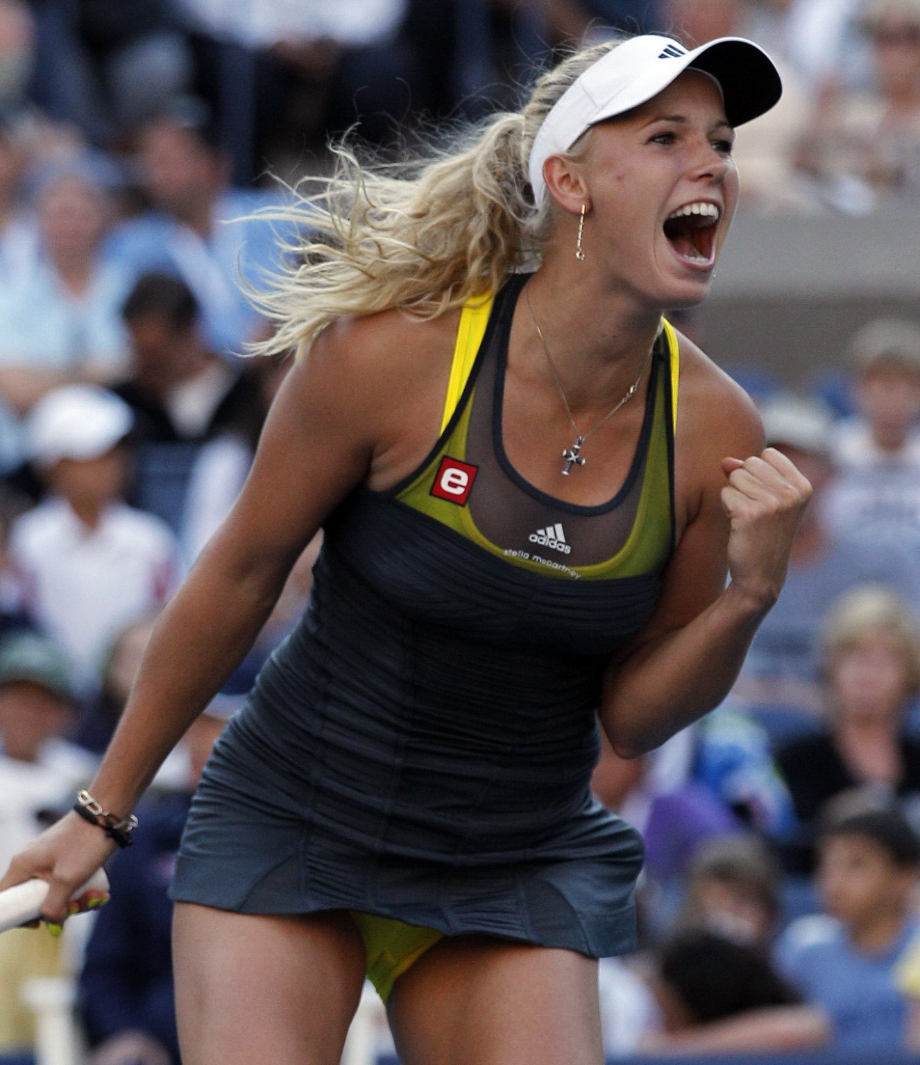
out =
<svg viewBox="0 0 920 1065"><path fill-rule="evenodd" d="M869 0L861 15L873 83L826 100L800 161L848 213L920 194L920 0Z"/></svg>

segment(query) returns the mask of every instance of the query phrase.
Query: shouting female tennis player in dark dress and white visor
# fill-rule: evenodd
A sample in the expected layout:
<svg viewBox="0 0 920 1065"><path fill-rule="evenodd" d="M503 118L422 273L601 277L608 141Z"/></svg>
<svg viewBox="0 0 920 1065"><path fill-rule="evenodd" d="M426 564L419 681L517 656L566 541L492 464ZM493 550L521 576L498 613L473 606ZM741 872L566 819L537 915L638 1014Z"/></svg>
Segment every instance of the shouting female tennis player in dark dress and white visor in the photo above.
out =
<svg viewBox="0 0 920 1065"><path fill-rule="evenodd" d="M631 756L724 698L809 494L662 321L706 296L732 127L779 93L747 42L597 46L454 153L343 153L305 206L270 298L301 357L249 479L91 793L2 885L64 916L324 528L185 831L187 1065L333 1065L366 972L406 1065L601 1061L642 846L592 799L598 716Z"/></svg>

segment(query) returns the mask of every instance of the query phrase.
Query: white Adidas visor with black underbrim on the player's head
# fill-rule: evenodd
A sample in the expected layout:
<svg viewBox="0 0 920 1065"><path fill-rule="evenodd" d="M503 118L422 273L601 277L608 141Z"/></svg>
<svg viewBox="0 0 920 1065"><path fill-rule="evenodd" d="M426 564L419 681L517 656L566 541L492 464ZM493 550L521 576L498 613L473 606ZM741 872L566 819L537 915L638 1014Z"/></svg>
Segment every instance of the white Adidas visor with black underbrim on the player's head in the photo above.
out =
<svg viewBox="0 0 920 1065"><path fill-rule="evenodd" d="M543 164L568 149L592 126L625 114L667 86L688 67L715 80L731 126L749 122L782 95L773 60L743 37L719 37L688 51L671 37L629 37L590 66L563 93L537 131L530 153L534 202L546 195Z"/></svg>

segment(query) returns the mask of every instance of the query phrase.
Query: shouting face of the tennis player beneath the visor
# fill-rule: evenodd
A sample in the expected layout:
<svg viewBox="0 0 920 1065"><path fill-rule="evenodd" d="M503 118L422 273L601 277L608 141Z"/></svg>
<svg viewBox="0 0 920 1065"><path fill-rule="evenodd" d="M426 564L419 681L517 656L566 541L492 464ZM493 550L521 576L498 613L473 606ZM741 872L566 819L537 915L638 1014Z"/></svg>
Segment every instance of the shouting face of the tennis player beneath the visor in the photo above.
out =
<svg viewBox="0 0 920 1065"><path fill-rule="evenodd" d="M657 309L706 297L738 202L732 141L719 88L693 70L594 128L584 250L616 288Z"/></svg>

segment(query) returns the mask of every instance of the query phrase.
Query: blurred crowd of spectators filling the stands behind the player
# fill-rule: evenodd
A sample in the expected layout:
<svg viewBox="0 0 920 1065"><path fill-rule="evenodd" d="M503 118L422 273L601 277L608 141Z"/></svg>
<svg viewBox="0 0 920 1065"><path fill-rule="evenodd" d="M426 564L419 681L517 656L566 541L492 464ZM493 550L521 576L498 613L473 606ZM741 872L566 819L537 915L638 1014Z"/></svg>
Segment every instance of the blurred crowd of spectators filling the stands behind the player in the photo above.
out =
<svg viewBox="0 0 920 1065"><path fill-rule="evenodd" d="M0 868L93 775L246 475L287 370L244 357L297 239L276 176L349 129L386 155L513 104L616 30L746 35L780 64L784 101L738 140L745 209L920 195L920 0L0 0ZM808 394L752 384L814 499L726 703L601 757L598 799L647 847L642 950L601 965L607 1049L920 1050L920 325L870 322ZM178 1065L190 794L318 550L160 771L110 904L0 937L0 1062L31 1052L23 986L65 972L93 1065Z"/></svg>

